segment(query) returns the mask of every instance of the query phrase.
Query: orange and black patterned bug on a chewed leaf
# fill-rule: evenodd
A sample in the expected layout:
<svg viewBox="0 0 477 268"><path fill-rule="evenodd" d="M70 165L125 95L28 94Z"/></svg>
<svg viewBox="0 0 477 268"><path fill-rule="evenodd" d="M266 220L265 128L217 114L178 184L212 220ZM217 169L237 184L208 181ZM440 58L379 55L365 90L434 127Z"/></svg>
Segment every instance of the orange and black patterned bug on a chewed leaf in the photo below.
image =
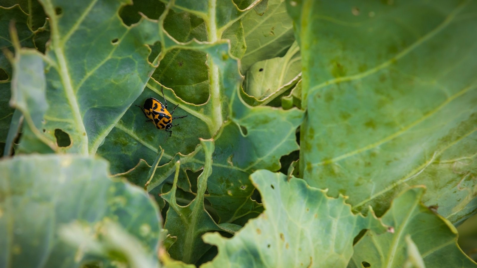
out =
<svg viewBox="0 0 477 268"><path fill-rule="evenodd" d="M147 118L146 122L152 122L153 124L156 125L157 129L166 130L169 133L169 137L170 137L172 136L171 128L173 126L179 125L179 124L173 125L172 120L184 118L187 115L172 117L172 114L176 110L177 106L179 106L179 104L177 104L176 107L172 109L172 112L169 113L169 111L167 111L167 101L166 101L166 97L164 96L164 91L162 86L161 86L161 93L162 93L162 97L164 98L164 103L166 105L162 104L155 98L151 97L145 100L141 111L143 111L145 117ZM136 106L141 108L141 106L139 105L136 105Z"/></svg>

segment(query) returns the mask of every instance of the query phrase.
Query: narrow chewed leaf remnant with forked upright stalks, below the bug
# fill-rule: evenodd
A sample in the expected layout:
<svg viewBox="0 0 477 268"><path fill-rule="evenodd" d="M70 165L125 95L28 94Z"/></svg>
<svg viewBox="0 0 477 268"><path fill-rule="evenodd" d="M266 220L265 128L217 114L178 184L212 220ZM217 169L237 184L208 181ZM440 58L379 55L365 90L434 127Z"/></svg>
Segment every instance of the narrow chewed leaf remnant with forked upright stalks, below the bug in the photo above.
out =
<svg viewBox="0 0 477 268"><path fill-rule="evenodd" d="M179 206L176 202L177 178L179 176L180 161L176 162L176 176L170 192L161 197L169 203L167 210L166 228L171 236L177 240L169 248L168 253L174 259L186 263L195 263L210 246L204 244L200 238L207 231L220 230L212 217L204 208L204 195L207 189L207 178L212 173L213 140L201 140L206 156L206 164L202 174L197 178L197 196L187 206Z"/></svg>

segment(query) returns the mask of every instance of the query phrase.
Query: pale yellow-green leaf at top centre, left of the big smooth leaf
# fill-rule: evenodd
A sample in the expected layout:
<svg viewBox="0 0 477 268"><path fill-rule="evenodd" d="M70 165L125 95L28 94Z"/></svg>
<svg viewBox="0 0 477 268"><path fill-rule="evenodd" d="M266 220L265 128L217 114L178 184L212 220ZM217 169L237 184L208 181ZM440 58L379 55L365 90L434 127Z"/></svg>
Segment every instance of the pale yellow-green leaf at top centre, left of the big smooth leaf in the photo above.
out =
<svg viewBox="0 0 477 268"><path fill-rule="evenodd" d="M293 21L287 15L285 0L269 0L263 15L249 12L242 20L247 51L241 59L240 72L255 62L285 55L295 37Z"/></svg>

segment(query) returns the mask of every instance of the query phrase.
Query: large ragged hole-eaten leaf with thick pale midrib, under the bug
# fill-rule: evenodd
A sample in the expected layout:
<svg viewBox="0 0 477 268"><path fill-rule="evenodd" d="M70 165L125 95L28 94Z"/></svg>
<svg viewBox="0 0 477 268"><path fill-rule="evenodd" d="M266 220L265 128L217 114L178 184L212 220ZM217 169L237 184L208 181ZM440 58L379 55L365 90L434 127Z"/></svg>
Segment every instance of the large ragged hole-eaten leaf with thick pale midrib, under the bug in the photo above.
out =
<svg viewBox="0 0 477 268"><path fill-rule="evenodd" d="M210 21L210 17L217 14L197 14L202 16L207 31L211 27L212 30L216 29L209 36L220 34L221 30L219 31L217 25L212 25L213 22ZM186 18L187 21L188 17ZM158 21L156 27L161 28L161 25L162 22ZM195 151L192 149L197 145L197 138L213 136L218 150L212 156L214 172L208 179L207 199L218 213L218 223L233 223L242 216L256 214L260 211L260 206L250 199L254 188L248 176L260 168L279 170L280 157L298 149L295 132L301 124L303 113L296 109L284 111L271 107L251 107L244 103L239 95L242 80L239 63L230 56L228 41L174 42L176 45L171 43L170 47L166 47L161 53L171 52L171 47L175 46L182 50L207 54L209 76L207 103L200 105L187 103L178 98L175 92L165 88L167 102L180 104L176 113L188 115L182 119L182 123L174 132L174 135L179 137L165 141L166 133L158 131L150 123L145 124L140 109L132 107L135 109L129 109L105 139L99 154L113 163L113 172L125 172L133 168L140 159L152 163L161 144L165 150L163 159L164 161L170 159L170 162L159 164L148 190L171 182L174 165L180 160L181 175L177 185L185 191L192 192L186 171L195 172L207 161L201 146ZM160 84L151 80L147 86L154 92L153 96L162 99L159 97ZM146 92L148 91L136 100L138 105L144 102L148 95ZM226 119L229 120L224 123ZM264 136L264 133L270 133L270 136ZM237 148L244 149L237 150ZM176 154L177 152L179 154ZM138 185L145 184L146 175L142 176L142 180L143 182L136 180Z"/></svg>

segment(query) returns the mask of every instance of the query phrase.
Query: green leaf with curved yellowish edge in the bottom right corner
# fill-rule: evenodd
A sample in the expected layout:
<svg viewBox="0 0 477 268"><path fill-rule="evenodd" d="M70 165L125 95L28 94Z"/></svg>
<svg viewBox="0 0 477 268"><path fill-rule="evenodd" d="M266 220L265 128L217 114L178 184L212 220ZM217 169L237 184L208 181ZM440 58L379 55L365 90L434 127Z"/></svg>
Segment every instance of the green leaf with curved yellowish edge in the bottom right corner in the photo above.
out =
<svg viewBox="0 0 477 268"><path fill-rule="evenodd" d="M371 267L403 267L406 255L409 257L407 236L414 241L427 268L477 267L457 246L456 228L421 203L423 194L421 186L397 196L382 217L384 224L394 227L394 233L368 232L354 245L350 267L362 267L363 262Z"/></svg>

